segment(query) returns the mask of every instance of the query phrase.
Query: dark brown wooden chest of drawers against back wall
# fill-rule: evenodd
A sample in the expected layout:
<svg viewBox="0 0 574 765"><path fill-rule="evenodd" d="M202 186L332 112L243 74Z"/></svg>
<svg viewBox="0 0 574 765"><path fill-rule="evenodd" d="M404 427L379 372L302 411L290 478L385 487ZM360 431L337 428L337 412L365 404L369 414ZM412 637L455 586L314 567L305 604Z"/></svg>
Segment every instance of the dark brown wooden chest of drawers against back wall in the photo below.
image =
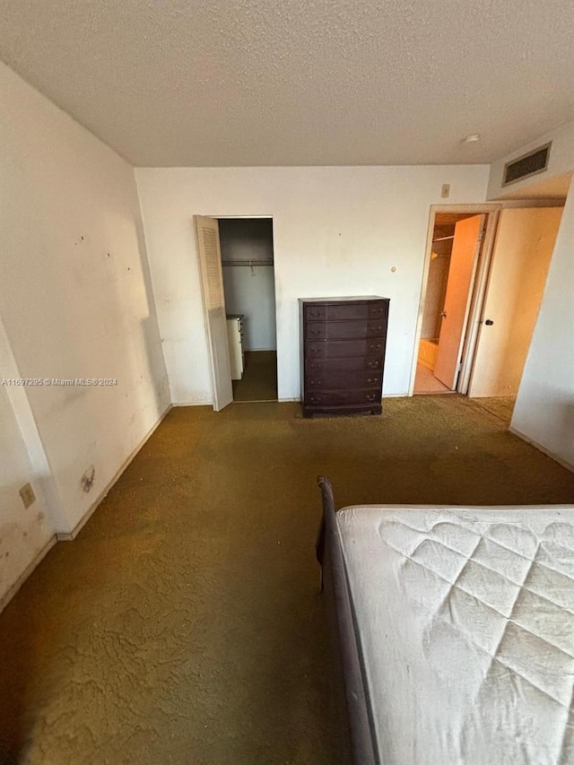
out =
<svg viewBox="0 0 574 765"><path fill-rule="evenodd" d="M303 415L381 413L388 298L301 298Z"/></svg>

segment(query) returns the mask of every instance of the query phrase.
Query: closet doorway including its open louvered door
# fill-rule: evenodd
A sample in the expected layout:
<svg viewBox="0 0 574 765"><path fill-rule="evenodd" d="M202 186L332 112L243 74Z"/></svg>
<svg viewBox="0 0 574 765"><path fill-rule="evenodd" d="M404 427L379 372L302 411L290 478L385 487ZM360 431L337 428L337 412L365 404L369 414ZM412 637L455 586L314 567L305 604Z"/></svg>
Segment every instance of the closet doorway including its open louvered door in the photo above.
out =
<svg viewBox="0 0 574 765"><path fill-rule="evenodd" d="M194 216L213 409L277 400L273 221Z"/></svg>

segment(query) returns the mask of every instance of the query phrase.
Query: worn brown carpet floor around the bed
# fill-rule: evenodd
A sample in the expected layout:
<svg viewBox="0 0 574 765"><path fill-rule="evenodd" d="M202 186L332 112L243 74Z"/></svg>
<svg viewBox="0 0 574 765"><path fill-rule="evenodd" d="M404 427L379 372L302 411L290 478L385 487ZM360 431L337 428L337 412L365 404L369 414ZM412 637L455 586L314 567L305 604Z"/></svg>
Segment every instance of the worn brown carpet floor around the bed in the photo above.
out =
<svg viewBox="0 0 574 765"><path fill-rule="evenodd" d="M0 760L337 762L317 474L339 506L574 503L574 474L462 396L174 409L0 615Z"/></svg>

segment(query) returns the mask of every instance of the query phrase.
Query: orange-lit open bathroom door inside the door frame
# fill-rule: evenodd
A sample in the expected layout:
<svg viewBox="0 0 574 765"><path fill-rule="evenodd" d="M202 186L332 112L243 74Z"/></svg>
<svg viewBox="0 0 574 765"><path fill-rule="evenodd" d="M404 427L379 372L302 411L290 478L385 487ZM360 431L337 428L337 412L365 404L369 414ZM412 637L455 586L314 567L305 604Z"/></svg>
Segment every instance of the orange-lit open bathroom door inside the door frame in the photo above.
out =
<svg viewBox="0 0 574 765"><path fill-rule="evenodd" d="M455 226L445 308L440 327L439 350L434 367L435 378L438 378L450 390L455 390L457 387L471 288L481 248L484 219L485 215L473 215L472 218L457 222Z"/></svg>

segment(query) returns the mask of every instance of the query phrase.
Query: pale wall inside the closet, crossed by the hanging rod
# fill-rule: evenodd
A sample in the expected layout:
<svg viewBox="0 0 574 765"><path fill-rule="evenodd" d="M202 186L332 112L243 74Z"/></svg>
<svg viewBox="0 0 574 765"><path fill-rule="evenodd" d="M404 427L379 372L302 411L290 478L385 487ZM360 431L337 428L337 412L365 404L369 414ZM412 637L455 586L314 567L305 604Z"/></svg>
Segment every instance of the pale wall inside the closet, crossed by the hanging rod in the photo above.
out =
<svg viewBox="0 0 574 765"><path fill-rule="evenodd" d="M219 222L222 260L271 260L273 222L225 219ZM243 350L274 351L275 284L272 265L223 265L225 309L243 314Z"/></svg>

